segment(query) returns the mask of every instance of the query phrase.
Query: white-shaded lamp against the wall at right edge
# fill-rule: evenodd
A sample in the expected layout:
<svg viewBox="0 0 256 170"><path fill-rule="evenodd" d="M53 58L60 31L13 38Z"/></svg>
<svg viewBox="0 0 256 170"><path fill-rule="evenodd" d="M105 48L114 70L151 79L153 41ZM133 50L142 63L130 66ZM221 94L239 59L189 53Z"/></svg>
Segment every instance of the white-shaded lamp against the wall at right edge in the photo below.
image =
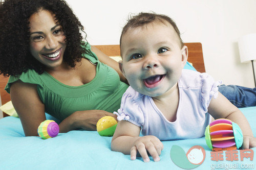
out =
<svg viewBox="0 0 256 170"><path fill-rule="evenodd" d="M253 60L256 60L256 34L248 34L242 36L238 40L238 47L240 53L241 62L251 61L252 64L252 71L253 71L253 78L254 78L254 85L256 87L256 80L255 80L255 73L254 73L254 66Z"/></svg>

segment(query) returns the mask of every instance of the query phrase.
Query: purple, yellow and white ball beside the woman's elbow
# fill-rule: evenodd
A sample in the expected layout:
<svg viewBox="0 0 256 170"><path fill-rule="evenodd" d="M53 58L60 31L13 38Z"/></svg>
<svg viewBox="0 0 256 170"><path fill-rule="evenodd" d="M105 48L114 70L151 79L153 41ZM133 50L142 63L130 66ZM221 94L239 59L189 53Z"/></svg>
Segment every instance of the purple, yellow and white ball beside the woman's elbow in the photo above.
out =
<svg viewBox="0 0 256 170"><path fill-rule="evenodd" d="M45 120L38 126L37 133L42 139L55 137L59 133L59 126L54 120Z"/></svg>

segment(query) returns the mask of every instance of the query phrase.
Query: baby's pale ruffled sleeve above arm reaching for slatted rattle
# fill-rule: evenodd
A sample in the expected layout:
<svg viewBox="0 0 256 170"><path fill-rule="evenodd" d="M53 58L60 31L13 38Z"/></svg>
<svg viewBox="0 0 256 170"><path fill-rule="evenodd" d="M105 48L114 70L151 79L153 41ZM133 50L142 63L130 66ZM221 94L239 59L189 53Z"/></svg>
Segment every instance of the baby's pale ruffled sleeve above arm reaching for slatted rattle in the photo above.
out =
<svg viewBox="0 0 256 170"><path fill-rule="evenodd" d="M211 76L205 72L200 74L201 78L201 104L205 112L208 111L208 106L212 98L218 97L218 86L222 83L221 81L215 81Z"/></svg>

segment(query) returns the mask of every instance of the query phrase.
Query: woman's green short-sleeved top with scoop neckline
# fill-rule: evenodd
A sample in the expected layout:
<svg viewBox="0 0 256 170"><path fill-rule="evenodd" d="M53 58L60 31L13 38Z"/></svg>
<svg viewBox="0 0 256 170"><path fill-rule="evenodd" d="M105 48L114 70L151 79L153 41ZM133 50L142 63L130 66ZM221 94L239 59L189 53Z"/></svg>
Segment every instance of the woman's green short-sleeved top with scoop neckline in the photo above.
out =
<svg viewBox="0 0 256 170"><path fill-rule="evenodd" d="M11 83L18 79L24 83L36 84L39 97L45 104L45 111L60 120L81 110L117 111L128 85L120 81L113 68L98 60L91 51L90 44L86 48L90 54L84 54L83 57L97 64L96 76L91 82L81 86L68 86L46 71L39 75L34 70L28 70L18 78L10 76L5 90L10 93Z"/></svg>

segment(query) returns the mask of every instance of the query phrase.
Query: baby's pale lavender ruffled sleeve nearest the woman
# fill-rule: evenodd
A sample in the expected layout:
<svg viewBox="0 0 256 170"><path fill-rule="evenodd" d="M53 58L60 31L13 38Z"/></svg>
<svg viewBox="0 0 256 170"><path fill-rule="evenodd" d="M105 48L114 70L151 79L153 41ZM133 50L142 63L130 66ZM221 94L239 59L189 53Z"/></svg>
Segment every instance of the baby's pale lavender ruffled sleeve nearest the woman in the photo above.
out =
<svg viewBox="0 0 256 170"><path fill-rule="evenodd" d="M121 107L114 114L118 120L127 120L134 125L142 127L144 125L144 115L139 106L140 95L138 92L129 87L122 96Z"/></svg>

